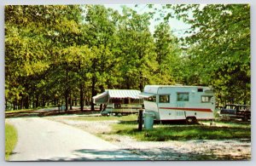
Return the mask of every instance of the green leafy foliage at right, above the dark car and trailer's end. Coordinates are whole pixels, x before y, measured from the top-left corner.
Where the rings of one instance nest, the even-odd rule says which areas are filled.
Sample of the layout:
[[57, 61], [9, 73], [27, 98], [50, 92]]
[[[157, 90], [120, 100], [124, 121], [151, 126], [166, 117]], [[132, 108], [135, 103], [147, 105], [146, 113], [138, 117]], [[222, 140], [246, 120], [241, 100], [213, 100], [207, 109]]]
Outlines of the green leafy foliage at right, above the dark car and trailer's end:
[[250, 104], [250, 5], [174, 5], [172, 9], [191, 25], [183, 43], [190, 71], [186, 83], [211, 84], [220, 103]]

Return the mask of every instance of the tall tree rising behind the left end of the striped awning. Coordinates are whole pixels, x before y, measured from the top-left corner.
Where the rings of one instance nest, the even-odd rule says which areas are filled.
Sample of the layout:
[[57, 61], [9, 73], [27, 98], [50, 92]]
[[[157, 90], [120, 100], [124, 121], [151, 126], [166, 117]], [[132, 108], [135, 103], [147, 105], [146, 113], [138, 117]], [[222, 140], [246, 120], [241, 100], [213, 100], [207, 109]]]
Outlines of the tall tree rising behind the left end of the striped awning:
[[[96, 87], [104, 91], [115, 61], [111, 52], [115, 33], [113, 10], [106, 9], [102, 5], [88, 5], [85, 21], [88, 27], [86, 29], [88, 44], [94, 52], [90, 67], [92, 101], [92, 96], [96, 95]], [[93, 102], [91, 102], [91, 110], [94, 111]]]

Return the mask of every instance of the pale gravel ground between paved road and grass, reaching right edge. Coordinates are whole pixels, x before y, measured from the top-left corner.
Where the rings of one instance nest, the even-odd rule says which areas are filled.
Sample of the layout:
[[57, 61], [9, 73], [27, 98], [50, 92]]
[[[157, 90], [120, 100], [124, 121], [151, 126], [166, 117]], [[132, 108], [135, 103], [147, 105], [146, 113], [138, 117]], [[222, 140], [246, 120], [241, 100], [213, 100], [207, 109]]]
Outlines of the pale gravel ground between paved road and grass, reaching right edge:
[[111, 141], [121, 149], [147, 160], [250, 160], [250, 140], [138, 141], [129, 136], [109, 135], [110, 125], [119, 121], [77, 121], [68, 117], [45, 117]]

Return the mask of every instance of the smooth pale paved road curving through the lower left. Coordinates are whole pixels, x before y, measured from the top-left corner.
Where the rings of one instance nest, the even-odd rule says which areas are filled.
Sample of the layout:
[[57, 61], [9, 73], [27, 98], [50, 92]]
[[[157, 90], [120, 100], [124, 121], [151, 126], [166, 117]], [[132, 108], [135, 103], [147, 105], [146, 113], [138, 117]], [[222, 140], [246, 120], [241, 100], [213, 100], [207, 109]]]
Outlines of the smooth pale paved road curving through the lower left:
[[95, 135], [43, 117], [6, 119], [18, 130], [9, 161], [143, 160]]

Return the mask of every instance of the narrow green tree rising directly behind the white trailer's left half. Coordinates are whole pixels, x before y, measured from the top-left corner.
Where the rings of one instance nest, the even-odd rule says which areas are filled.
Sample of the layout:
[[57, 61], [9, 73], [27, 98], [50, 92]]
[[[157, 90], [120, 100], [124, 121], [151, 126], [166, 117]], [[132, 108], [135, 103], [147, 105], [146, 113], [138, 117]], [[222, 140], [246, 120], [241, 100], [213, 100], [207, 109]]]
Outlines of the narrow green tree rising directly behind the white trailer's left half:
[[155, 27], [154, 44], [156, 61], [159, 65], [155, 72], [157, 84], [173, 84], [177, 81], [177, 68], [180, 66], [181, 49], [177, 37], [172, 35], [171, 27], [166, 22]]

